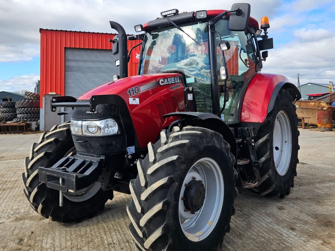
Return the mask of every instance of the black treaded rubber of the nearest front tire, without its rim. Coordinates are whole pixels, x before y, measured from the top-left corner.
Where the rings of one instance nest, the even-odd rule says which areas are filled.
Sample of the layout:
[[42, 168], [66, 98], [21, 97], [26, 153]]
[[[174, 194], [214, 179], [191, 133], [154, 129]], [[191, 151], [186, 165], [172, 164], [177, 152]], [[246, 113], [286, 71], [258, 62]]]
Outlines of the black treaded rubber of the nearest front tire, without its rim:
[[[235, 158], [229, 144], [214, 131], [200, 127], [174, 127], [137, 162], [138, 176], [130, 182], [132, 200], [127, 204], [131, 220], [129, 231], [139, 250], [216, 250], [230, 229], [230, 218], [237, 196], [233, 168]], [[191, 241], [179, 220], [179, 200], [185, 175], [198, 160], [215, 160], [223, 175], [224, 200], [218, 220], [210, 234]], [[197, 238], [197, 237], [195, 237]]]

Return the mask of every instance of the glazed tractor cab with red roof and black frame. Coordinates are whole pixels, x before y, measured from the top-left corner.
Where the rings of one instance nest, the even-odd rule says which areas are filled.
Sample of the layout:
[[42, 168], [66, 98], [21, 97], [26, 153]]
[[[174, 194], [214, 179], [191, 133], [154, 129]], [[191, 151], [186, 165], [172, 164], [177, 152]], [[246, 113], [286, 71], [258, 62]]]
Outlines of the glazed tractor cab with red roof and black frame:
[[[214, 113], [228, 124], [238, 123], [246, 83], [262, 68], [256, 49], [262, 30], [249, 17], [248, 4], [236, 8], [244, 16], [238, 16], [238, 11], [179, 14], [173, 9], [144, 26], [136, 25], [136, 31], [145, 31], [138, 73], [180, 73], [187, 111]], [[266, 34], [262, 38], [266, 40]]]

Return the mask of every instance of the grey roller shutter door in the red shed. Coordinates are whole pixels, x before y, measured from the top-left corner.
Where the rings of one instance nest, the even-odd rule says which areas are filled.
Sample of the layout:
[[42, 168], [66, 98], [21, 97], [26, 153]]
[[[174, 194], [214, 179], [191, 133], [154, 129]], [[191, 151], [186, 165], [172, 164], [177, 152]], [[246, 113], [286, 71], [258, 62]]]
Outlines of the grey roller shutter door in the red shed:
[[[119, 75], [119, 67], [115, 60], [119, 55], [113, 55], [112, 50], [65, 49], [65, 95], [78, 98], [85, 92], [103, 83], [113, 80]], [[66, 107], [65, 111], [71, 110]], [[64, 121], [71, 119], [65, 115]]]

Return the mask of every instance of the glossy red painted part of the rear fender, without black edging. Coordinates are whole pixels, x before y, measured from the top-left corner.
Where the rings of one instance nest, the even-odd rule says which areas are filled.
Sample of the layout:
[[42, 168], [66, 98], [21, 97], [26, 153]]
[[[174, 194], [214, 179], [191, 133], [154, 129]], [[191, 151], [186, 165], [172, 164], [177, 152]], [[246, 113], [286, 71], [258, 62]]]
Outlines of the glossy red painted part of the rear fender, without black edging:
[[264, 122], [275, 86], [289, 80], [282, 75], [257, 73], [250, 81], [243, 99], [241, 122]]

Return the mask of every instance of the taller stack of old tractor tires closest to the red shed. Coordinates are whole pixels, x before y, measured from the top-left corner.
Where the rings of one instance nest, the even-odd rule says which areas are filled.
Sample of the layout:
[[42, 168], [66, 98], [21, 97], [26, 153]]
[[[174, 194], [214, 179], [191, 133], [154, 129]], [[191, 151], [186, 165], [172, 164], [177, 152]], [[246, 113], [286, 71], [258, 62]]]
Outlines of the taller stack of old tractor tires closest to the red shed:
[[25, 100], [17, 101], [15, 104], [17, 121], [38, 121], [40, 119], [40, 94], [25, 92]]

